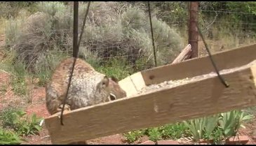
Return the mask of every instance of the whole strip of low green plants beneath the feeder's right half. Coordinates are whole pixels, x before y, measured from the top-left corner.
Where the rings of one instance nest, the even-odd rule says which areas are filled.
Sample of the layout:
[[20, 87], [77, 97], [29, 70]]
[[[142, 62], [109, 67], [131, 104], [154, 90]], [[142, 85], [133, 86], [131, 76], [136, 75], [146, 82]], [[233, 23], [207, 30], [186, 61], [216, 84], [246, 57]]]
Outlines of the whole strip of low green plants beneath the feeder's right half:
[[148, 136], [150, 140], [187, 138], [193, 136], [194, 141], [200, 139], [213, 140], [217, 144], [221, 140], [236, 136], [239, 128], [245, 128], [243, 123], [251, 119], [252, 115], [245, 114], [241, 110], [232, 110], [221, 114], [190, 119], [176, 124], [166, 124], [149, 129], [130, 131], [124, 133], [128, 143], [133, 143], [142, 136]]

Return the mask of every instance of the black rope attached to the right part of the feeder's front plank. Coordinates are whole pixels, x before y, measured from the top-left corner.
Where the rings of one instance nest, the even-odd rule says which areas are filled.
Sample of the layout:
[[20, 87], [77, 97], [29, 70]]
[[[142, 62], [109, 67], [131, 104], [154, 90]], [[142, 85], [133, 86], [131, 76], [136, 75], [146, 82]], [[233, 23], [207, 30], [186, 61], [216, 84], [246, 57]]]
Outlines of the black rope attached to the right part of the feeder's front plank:
[[210, 54], [210, 50], [209, 50], [209, 48], [208, 48], [208, 45], [207, 45], [205, 39], [203, 38], [202, 31], [201, 31], [201, 29], [199, 29], [198, 24], [196, 25], [196, 27], [197, 27], [197, 29], [198, 29], [199, 35], [201, 36], [201, 38], [202, 38], [202, 40], [203, 40], [203, 43], [204, 43], [204, 45], [205, 45], [205, 47], [206, 47], [206, 50], [207, 50], [207, 52], [208, 52], [210, 61], [212, 62], [213, 67], [215, 68], [215, 71], [216, 71], [216, 73], [217, 73], [218, 78], [220, 79], [220, 81], [222, 82], [222, 84], [223, 84], [225, 87], [229, 87], [228, 83], [224, 80], [224, 78], [222, 78], [222, 75], [220, 75], [220, 72], [219, 72], [219, 70], [217, 69], [217, 66], [216, 66], [216, 64], [215, 64], [215, 61], [213, 61], [212, 54]]

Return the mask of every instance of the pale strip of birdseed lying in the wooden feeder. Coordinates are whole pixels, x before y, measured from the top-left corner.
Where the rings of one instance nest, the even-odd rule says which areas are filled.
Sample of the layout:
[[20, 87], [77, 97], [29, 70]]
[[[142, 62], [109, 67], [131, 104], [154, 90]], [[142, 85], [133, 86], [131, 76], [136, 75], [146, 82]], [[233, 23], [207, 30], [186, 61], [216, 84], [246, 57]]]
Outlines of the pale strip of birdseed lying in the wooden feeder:
[[[227, 74], [227, 73], [233, 73], [235, 71], [238, 71], [238, 70], [241, 70], [241, 69], [244, 69], [244, 68], [248, 68], [248, 67], [252, 66], [253, 64], [256, 64], [256, 60], [251, 61], [249, 64], [245, 64], [243, 66], [238, 66], [236, 68], [224, 69], [224, 70], [220, 71], [220, 75], [224, 75], [224, 74]], [[147, 87], [144, 87], [139, 92], [137, 92], [137, 94], [157, 92], [157, 91], [162, 90], [162, 89], [173, 88], [173, 87], [177, 87], [177, 86], [180, 86], [180, 85], [187, 84], [189, 82], [195, 82], [195, 81], [199, 81], [199, 80], [203, 80], [203, 79], [211, 78], [211, 77], [215, 77], [215, 76], [217, 76], [217, 73], [211, 72], [211, 73], [204, 74], [204, 75], [198, 75], [198, 76], [195, 76], [193, 78], [184, 78], [182, 80], [164, 81], [164, 82], [161, 82], [161, 83], [156, 84], [156, 85], [149, 85]]]

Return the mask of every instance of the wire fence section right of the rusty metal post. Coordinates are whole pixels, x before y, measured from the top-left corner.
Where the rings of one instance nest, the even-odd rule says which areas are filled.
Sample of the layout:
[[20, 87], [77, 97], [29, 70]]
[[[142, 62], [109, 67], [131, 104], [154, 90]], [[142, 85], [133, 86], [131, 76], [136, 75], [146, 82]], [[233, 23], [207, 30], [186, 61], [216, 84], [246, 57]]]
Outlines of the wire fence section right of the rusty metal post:
[[[245, 6], [247, 5], [247, 6]], [[255, 3], [243, 1], [200, 2], [199, 23], [211, 52], [219, 52], [255, 43]], [[206, 55], [199, 39], [198, 52]]]

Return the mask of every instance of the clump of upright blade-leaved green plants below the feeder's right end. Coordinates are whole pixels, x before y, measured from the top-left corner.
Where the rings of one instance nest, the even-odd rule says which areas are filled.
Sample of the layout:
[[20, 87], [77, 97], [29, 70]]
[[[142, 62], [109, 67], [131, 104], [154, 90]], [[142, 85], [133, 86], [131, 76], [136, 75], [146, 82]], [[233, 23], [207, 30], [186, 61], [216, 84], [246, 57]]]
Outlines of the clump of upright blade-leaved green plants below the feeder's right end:
[[223, 138], [236, 136], [238, 129], [244, 128], [243, 122], [251, 118], [252, 115], [245, 115], [241, 110], [232, 110], [210, 117], [191, 119], [184, 124], [189, 128], [194, 140], [207, 139], [217, 143]]

